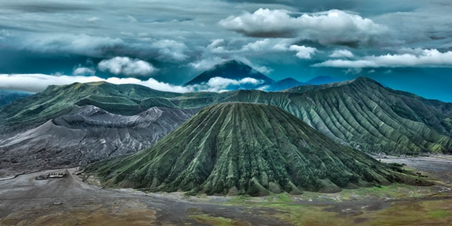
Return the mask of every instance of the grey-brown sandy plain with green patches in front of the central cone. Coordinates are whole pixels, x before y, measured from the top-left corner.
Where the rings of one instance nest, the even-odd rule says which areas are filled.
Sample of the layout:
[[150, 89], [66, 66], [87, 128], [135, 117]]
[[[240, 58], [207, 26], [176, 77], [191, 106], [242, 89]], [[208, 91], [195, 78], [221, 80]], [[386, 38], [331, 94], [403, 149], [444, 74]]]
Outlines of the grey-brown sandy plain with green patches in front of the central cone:
[[[452, 225], [452, 160], [402, 162], [435, 181], [431, 187], [392, 184], [325, 194], [187, 197], [105, 189], [68, 169], [64, 179], [36, 181], [45, 171], [0, 181], [0, 225]], [[86, 178], [85, 178], [86, 179]], [[61, 205], [53, 205], [60, 202]]]

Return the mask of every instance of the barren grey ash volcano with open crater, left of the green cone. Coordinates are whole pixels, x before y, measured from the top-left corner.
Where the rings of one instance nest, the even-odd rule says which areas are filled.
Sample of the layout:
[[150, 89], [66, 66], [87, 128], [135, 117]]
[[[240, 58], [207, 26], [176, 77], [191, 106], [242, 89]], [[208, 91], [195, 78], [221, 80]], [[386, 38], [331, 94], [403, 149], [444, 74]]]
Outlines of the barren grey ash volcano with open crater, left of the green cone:
[[133, 116], [92, 105], [0, 141], [0, 165], [10, 171], [76, 166], [151, 146], [197, 109], [153, 107]]

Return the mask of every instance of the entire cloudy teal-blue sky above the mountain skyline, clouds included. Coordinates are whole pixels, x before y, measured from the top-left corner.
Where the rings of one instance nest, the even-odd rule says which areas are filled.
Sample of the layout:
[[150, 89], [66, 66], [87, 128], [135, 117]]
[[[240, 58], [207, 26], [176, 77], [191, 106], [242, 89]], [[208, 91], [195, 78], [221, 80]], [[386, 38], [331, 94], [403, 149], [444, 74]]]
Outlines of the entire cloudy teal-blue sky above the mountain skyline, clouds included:
[[108, 79], [159, 90], [224, 60], [306, 81], [368, 76], [452, 102], [452, 3], [0, 2], [0, 89]]

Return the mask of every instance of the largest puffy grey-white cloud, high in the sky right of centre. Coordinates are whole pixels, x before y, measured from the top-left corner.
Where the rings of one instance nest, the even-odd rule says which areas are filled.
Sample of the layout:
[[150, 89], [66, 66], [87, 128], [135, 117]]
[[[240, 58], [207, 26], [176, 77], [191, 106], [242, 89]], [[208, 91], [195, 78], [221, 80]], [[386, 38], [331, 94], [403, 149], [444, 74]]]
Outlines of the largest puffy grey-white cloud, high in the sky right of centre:
[[369, 18], [342, 10], [329, 10], [294, 17], [287, 10], [256, 10], [229, 16], [220, 25], [251, 37], [303, 38], [322, 44], [368, 45], [388, 31]]

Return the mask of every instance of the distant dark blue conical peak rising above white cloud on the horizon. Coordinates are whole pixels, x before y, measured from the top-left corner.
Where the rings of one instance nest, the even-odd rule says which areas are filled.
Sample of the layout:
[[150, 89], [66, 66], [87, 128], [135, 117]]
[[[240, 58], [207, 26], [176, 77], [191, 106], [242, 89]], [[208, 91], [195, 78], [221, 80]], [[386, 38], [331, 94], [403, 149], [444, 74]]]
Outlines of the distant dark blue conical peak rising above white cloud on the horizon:
[[[273, 79], [265, 76], [264, 74], [256, 71], [251, 66], [244, 64], [237, 60], [228, 60], [222, 62], [221, 64], [217, 64], [216, 66], [210, 68], [208, 71], [201, 73], [194, 79], [188, 81], [185, 85], [190, 86], [194, 84], [203, 84], [207, 83], [210, 79], [214, 77], [223, 77], [225, 79], [234, 79], [240, 80], [244, 78], [253, 78], [260, 81], [259, 84], [243, 84], [242, 86], [249, 86], [249, 88], [253, 88], [254, 86], [264, 86], [268, 84], [272, 84], [274, 82]], [[247, 87], [245, 87], [247, 88]]]

